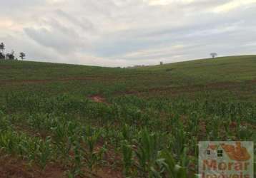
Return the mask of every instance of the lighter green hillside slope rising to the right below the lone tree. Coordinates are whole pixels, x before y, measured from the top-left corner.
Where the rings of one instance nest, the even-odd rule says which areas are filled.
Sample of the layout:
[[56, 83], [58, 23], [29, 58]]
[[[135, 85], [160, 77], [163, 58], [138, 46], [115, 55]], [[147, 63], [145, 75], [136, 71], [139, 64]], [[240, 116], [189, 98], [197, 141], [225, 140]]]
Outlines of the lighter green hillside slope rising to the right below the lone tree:
[[162, 66], [148, 66], [143, 70], [169, 71], [175, 75], [184, 75], [196, 81], [242, 81], [256, 79], [256, 56], [230, 56], [215, 59], [201, 59]]

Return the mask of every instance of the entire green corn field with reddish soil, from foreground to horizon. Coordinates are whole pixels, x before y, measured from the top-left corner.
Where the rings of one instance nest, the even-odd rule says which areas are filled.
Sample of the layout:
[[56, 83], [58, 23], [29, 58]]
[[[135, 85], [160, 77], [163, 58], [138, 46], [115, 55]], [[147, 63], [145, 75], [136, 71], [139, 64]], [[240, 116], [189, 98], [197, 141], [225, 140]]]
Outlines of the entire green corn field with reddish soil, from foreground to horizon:
[[256, 142], [256, 56], [0, 61], [0, 177], [192, 178], [203, 140]]

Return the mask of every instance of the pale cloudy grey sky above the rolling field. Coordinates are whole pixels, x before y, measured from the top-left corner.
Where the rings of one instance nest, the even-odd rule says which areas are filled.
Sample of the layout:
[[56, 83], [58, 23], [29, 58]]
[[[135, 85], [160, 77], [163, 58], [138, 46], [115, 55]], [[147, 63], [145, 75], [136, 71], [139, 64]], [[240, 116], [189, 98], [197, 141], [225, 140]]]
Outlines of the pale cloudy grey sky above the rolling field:
[[123, 67], [256, 54], [256, 0], [0, 4], [0, 42], [29, 61]]

